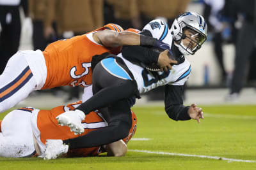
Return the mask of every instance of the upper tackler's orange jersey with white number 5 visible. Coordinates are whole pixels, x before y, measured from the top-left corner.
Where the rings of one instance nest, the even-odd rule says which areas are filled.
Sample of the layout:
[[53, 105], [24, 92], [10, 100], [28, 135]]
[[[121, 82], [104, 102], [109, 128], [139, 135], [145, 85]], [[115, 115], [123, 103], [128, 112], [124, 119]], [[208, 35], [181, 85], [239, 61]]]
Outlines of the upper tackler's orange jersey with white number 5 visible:
[[[95, 31], [104, 29], [124, 31], [122, 27], [116, 24], [108, 24]], [[92, 69], [90, 62], [93, 55], [100, 55], [105, 52], [117, 54], [120, 50], [121, 47], [106, 48], [94, 43], [88, 39], [86, 34], [51, 43], [43, 52], [47, 67], [47, 78], [42, 89], [65, 85], [82, 87], [91, 85]]]

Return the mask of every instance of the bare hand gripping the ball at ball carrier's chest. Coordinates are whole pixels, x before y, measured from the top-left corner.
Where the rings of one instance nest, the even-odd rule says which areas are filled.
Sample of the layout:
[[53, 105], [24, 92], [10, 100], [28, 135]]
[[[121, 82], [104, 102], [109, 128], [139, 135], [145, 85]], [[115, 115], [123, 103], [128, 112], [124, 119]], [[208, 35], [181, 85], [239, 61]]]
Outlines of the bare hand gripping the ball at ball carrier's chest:
[[[168, 56], [169, 50], [164, 50], [160, 53], [157, 61], [157, 65], [161, 68], [161, 71], [168, 71], [172, 69], [171, 64], [177, 64], [177, 60], [170, 59]], [[169, 54], [170, 55], [170, 54]]]

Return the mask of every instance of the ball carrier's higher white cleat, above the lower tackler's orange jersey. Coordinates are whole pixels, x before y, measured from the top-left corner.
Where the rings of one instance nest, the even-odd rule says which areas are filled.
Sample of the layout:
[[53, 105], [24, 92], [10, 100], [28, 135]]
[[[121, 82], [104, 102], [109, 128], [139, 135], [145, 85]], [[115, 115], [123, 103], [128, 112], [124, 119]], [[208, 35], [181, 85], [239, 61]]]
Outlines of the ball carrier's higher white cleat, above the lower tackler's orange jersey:
[[66, 111], [56, 117], [59, 125], [67, 125], [70, 128], [70, 132], [75, 134], [82, 134], [84, 132], [84, 127], [81, 123], [84, 118], [85, 115], [81, 110]]

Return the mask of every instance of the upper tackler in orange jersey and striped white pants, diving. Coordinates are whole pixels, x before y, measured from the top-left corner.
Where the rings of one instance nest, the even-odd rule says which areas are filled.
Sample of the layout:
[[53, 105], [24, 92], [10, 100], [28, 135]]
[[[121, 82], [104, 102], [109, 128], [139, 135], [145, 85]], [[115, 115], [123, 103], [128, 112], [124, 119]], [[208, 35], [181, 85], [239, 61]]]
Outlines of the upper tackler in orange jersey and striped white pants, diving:
[[[28, 97], [33, 90], [91, 85], [94, 55], [117, 54], [122, 45], [161, 44], [155, 38], [108, 24], [81, 36], [51, 43], [43, 52], [19, 51], [10, 58], [0, 75], [0, 113]], [[156, 62], [164, 68], [172, 67], [167, 52], [161, 53]]]

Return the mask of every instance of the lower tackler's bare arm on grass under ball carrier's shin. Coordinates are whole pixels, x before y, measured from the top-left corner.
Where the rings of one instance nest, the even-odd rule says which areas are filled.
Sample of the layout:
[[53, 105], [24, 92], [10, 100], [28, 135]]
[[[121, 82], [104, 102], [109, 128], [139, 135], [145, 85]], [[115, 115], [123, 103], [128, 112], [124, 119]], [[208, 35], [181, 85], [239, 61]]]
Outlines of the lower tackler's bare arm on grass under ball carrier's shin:
[[123, 157], [127, 152], [127, 145], [122, 139], [103, 146], [108, 157]]

